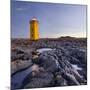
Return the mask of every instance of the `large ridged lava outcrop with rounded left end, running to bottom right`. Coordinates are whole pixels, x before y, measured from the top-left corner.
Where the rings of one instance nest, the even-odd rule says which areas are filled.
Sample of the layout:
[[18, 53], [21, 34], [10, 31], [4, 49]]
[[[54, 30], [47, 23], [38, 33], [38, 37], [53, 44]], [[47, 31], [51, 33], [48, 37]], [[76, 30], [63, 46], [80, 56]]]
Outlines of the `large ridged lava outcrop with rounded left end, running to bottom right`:
[[[38, 61], [38, 64], [48, 72], [55, 73], [59, 71], [62, 73], [59, 75], [62, 77], [61, 81], [66, 80], [68, 85], [80, 85], [83, 82], [84, 74], [82, 77], [78, 70], [72, 66], [75, 64], [82, 68], [82, 63], [79, 59], [70, 56], [66, 49], [58, 48], [58, 50], [43, 52], [39, 56]], [[63, 82], [62, 85], [64, 85]]]

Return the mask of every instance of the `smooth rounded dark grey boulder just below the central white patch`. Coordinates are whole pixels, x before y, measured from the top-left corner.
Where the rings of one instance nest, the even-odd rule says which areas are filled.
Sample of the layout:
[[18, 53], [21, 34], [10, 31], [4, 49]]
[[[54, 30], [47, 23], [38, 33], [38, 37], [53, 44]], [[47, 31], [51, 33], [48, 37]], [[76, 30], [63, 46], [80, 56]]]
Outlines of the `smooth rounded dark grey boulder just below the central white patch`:
[[58, 70], [58, 65], [56, 59], [51, 52], [42, 53], [39, 56], [40, 66], [42, 66], [48, 72], [56, 72]]

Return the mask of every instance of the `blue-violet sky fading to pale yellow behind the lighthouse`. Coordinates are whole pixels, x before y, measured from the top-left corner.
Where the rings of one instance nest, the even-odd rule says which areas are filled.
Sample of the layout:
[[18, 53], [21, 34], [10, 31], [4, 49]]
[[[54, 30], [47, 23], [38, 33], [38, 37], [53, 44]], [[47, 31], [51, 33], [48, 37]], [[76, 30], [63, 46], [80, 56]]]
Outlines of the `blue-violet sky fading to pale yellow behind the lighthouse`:
[[11, 1], [11, 38], [29, 38], [29, 21], [39, 21], [40, 38], [86, 37], [86, 5]]

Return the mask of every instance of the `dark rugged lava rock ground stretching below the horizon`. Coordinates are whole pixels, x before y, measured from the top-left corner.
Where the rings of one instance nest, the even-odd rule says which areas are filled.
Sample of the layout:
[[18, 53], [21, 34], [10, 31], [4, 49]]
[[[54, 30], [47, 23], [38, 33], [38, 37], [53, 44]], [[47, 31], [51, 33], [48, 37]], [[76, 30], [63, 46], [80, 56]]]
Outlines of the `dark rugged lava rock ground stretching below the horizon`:
[[12, 39], [12, 90], [86, 84], [86, 38]]

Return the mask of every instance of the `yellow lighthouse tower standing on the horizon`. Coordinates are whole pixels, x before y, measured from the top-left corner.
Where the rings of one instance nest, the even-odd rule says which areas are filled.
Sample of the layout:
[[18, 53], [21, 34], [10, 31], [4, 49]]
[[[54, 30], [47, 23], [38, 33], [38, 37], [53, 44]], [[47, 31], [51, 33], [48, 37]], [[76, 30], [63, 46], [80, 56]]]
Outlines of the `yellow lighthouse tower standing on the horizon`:
[[30, 20], [30, 40], [38, 40], [39, 39], [39, 23], [36, 18], [32, 18]]

